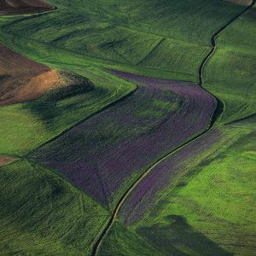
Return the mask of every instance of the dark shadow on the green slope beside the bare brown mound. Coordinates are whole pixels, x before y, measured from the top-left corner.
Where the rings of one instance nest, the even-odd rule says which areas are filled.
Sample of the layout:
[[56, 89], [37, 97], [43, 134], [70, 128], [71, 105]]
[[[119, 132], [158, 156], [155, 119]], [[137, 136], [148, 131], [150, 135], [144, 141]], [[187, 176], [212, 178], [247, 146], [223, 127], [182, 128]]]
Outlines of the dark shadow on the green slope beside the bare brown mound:
[[[77, 113], [73, 113], [73, 119], [77, 121], [76, 119], [80, 119], [79, 116], [83, 116], [83, 112], [86, 113], [94, 98], [108, 93], [102, 88], [95, 88], [89, 79], [69, 73], [64, 73], [64, 75], [61, 73], [61, 75], [62, 77], [65, 75], [66, 84], [64, 86], [50, 90], [38, 100], [23, 104], [23, 108], [38, 116], [38, 119], [49, 130], [55, 129], [58, 119], [63, 119], [64, 122], [68, 121], [67, 113], [70, 115], [76, 111]], [[80, 112], [81, 110], [82, 112]], [[59, 120], [60, 124], [62, 121]]]

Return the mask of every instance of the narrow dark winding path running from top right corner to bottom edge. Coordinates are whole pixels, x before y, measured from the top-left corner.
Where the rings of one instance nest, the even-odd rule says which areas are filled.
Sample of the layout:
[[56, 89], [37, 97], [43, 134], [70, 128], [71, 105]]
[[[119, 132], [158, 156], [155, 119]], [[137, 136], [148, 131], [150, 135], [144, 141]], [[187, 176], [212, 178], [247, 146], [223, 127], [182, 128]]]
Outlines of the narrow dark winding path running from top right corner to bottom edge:
[[[201, 88], [203, 90], [205, 90], [202, 87], [203, 84], [203, 73], [204, 73], [204, 68], [206, 67], [207, 61], [209, 61], [209, 59], [212, 57], [212, 55], [214, 54], [215, 50], [216, 50], [216, 39], [218, 38], [218, 35], [220, 32], [223, 32], [224, 29], [229, 26], [234, 20], [236, 20], [237, 18], [239, 18], [241, 15], [243, 15], [245, 12], [247, 12], [248, 9], [251, 9], [254, 5], [254, 3], [256, 2], [256, 0], [253, 0], [252, 3], [250, 5], [247, 6], [246, 9], [243, 9], [241, 11], [241, 13], [239, 13], [238, 15], [236, 15], [233, 19], [231, 19], [226, 25], [222, 26], [221, 28], [218, 29], [217, 32], [215, 32], [212, 35], [211, 38], [211, 44], [212, 44], [212, 49], [210, 50], [210, 52], [207, 54], [207, 56], [204, 58], [204, 60], [201, 62], [201, 66], [199, 67], [199, 71], [198, 71], [198, 76], [199, 76], [199, 86], [201, 86]], [[206, 90], [207, 91], [207, 90]], [[209, 91], [207, 91], [207, 93], [209, 93], [211, 96], [213, 96]], [[104, 238], [104, 236], [106, 236], [108, 234], [108, 231], [111, 229], [111, 227], [113, 226], [114, 220], [118, 217], [118, 214], [120, 212], [121, 207], [124, 205], [125, 200], [127, 199], [127, 197], [129, 195], [131, 195], [131, 192], [136, 189], [137, 185], [143, 180], [144, 177], [146, 177], [148, 175], [149, 172], [151, 172], [155, 166], [158, 166], [161, 162], [163, 162], [164, 160], [166, 160], [169, 156], [171, 156], [172, 154], [176, 153], [178, 150], [188, 146], [190, 143], [194, 143], [197, 139], [199, 139], [202, 136], [205, 136], [209, 131], [212, 131], [213, 125], [215, 124], [216, 120], [218, 119], [219, 115], [223, 112], [223, 103], [220, 102], [220, 100], [218, 100], [218, 98], [216, 96], [213, 96], [216, 99], [217, 105], [215, 108], [214, 113], [212, 114], [212, 119], [210, 122], [210, 125], [208, 126], [206, 131], [203, 131], [201, 134], [197, 135], [196, 137], [192, 138], [191, 140], [189, 140], [186, 143], [183, 143], [183, 145], [179, 146], [178, 148], [176, 148], [175, 150], [172, 150], [172, 152], [166, 154], [165, 156], [163, 156], [162, 158], [160, 158], [160, 160], [156, 160], [151, 166], [148, 167], [146, 172], [143, 172], [143, 174], [137, 178], [137, 180], [131, 184], [130, 188], [127, 189], [125, 191], [125, 194], [120, 198], [119, 202], [117, 203], [116, 207], [113, 210], [113, 213], [111, 215], [111, 218], [108, 220], [108, 224], [106, 225], [106, 227], [104, 228], [104, 230], [102, 230], [101, 235], [98, 237], [94, 247], [92, 248], [92, 256], [96, 256], [99, 247], [101, 246], [102, 240]]]

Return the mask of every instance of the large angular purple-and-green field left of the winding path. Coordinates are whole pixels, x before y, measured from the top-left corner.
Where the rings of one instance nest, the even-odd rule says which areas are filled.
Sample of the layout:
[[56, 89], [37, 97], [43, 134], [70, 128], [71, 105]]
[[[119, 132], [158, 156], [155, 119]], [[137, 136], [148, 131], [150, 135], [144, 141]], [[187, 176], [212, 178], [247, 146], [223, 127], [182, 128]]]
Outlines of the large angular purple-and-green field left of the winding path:
[[31, 155], [105, 206], [145, 166], [204, 131], [216, 105], [196, 84], [112, 73], [137, 90]]

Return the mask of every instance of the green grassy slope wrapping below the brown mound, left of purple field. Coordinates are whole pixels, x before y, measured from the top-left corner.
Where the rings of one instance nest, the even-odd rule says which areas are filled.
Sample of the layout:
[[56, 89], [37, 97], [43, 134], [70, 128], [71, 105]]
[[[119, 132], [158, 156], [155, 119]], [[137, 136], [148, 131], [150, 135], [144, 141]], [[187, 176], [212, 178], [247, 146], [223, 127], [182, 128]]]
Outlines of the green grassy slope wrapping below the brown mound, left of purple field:
[[136, 88], [97, 69], [74, 71], [89, 78], [94, 90], [54, 101], [43, 97], [0, 108], [0, 133], [4, 134], [0, 137], [0, 154], [26, 154]]

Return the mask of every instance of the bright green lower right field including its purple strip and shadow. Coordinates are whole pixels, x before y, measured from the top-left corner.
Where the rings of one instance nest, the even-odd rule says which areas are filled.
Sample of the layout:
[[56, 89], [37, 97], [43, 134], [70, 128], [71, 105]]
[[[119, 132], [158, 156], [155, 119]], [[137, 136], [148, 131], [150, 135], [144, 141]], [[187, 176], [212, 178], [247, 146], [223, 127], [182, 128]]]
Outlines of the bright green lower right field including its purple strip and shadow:
[[[103, 240], [100, 255], [253, 255], [255, 117], [212, 130], [144, 178]], [[128, 225], [128, 227], [127, 227]], [[229, 234], [229, 236], [227, 236]], [[134, 253], [134, 252], [133, 252]]]

